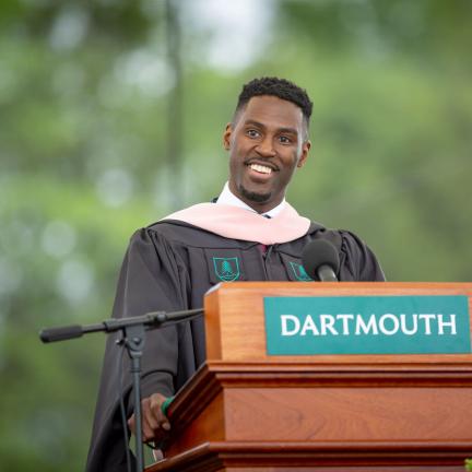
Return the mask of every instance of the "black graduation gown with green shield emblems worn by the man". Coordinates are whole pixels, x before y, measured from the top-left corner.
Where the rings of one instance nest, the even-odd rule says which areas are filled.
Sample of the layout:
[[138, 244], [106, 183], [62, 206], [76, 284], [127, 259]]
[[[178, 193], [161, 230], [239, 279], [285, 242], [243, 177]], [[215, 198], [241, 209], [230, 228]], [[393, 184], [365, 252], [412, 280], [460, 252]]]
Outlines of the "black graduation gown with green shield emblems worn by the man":
[[[314, 238], [329, 239], [340, 256], [340, 281], [384, 281], [370, 249], [355, 235], [312, 223], [290, 243], [263, 247], [228, 239], [190, 224], [166, 220], [138, 231], [131, 238], [118, 281], [114, 318], [149, 311], [200, 308], [204, 293], [221, 281], [299, 281], [303, 248]], [[126, 471], [126, 448], [119, 412], [119, 356], [109, 335], [92, 442], [88, 472]], [[146, 332], [142, 357], [142, 396], [174, 394], [205, 358], [202, 317]], [[123, 391], [128, 417], [130, 381], [125, 355]]]

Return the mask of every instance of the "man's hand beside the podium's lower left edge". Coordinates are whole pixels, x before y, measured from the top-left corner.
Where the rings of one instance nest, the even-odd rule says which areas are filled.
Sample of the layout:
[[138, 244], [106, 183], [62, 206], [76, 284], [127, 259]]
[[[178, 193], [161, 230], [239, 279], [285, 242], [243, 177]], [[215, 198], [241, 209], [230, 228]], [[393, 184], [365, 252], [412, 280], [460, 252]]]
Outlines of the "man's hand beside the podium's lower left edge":
[[[161, 410], [165, 401], [166, 398], [161, 393], [153, 393], [151, 397], [141, 400], [142, 434], [144, 442], [153, 439], [163, 439], [166, 432], [170, 429], [170, 423]], [[134, 414], [128, 420], [128, 426], [131, 432], [135, 434]]]

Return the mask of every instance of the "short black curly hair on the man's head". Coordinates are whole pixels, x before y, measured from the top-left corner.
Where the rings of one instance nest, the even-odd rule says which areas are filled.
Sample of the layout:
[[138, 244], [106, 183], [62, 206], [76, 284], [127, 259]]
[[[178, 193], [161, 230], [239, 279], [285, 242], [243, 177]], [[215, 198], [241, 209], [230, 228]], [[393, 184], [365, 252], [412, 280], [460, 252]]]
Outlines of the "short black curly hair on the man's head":
[[239, 94], [236, 105], [235, 115], [245, 107], [253, 96], [260, 95], [272, 95], [292, 102], [302, 109], [308, 127], [312, 110], [312, 102], [309, 99], [306, 91], [288, 80], [274, 76], [253, 79], [243, 85], [243, 91]]

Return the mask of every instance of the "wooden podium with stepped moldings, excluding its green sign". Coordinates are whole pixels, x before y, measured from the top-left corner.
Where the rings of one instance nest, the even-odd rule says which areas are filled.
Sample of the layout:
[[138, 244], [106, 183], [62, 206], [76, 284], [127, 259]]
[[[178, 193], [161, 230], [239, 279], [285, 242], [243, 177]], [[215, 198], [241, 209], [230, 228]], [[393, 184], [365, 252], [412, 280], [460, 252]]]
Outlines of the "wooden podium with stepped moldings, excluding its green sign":
[[[264, 297], [461, 295], [472, 283], [223, 283], [161, 471], [464, 471], [472, 353], [269, 355]], [[470, 332], [469, 332], [470, 335]]]

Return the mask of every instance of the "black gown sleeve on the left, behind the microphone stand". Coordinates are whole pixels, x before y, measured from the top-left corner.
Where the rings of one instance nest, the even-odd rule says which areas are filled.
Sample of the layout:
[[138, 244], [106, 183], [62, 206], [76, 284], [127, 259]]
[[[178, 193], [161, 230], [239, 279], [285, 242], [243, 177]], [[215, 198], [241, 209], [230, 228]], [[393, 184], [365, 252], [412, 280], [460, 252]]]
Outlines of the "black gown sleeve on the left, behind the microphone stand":
[[[170, 244], [152, 229], [140, 229], [129, 244], [118, 279], [114, 318], [144, 315], [149, 311], [174, 311], [188, 308], [186, 268]], [[175, 324], [146, 331], [142, 368], [142, 398], [175, 391], [178, 370], [179, 339], [185, 326]], [[120, 333], [108, 335], [95, 411], [87, 472], [126, 471], [126, 448], [119, 409], [121, 390], [129, 417], [129, 361], [116, 345]], [[120, 356], [122, 368], [120, 369]], [[122, 381], [120, 382], [120, 376]]]

